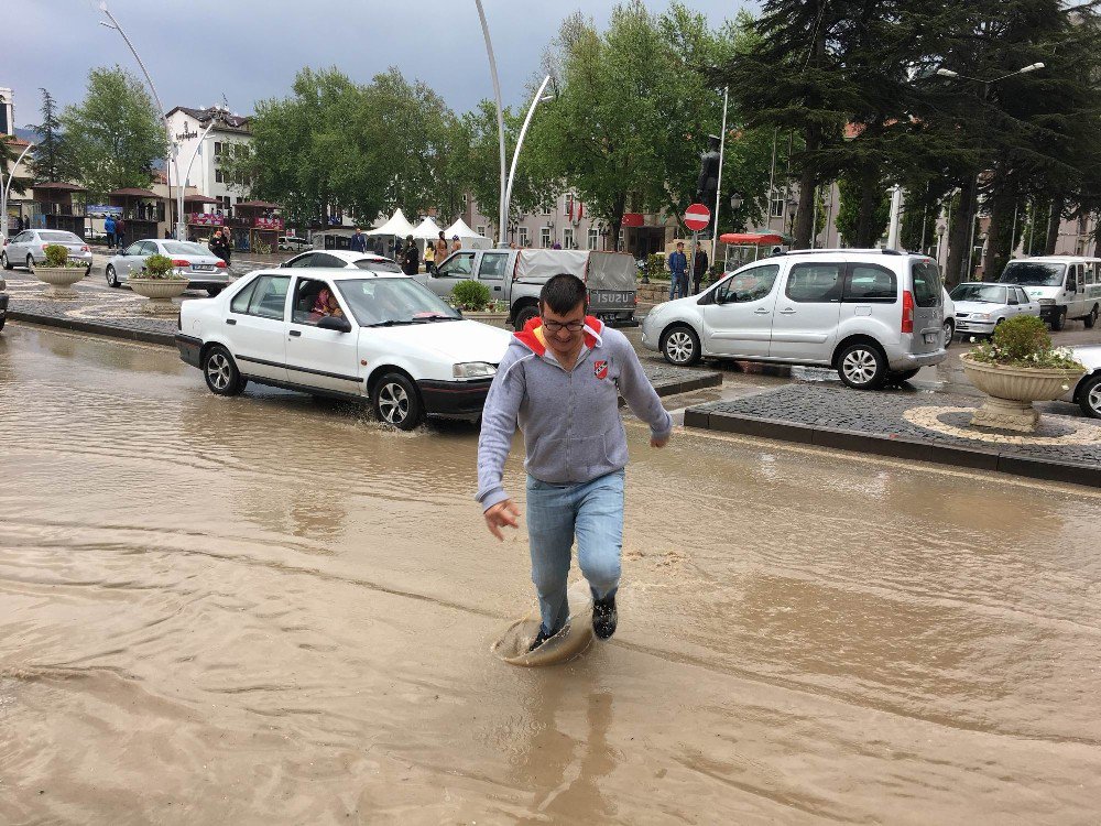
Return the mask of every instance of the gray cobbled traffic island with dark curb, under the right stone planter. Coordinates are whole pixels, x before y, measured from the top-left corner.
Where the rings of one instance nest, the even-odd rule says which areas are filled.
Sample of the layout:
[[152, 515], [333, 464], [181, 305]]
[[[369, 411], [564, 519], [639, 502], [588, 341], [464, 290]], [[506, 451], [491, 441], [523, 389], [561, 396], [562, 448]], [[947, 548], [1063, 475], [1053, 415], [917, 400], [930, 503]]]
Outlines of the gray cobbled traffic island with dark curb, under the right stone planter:
[[1101, 487], [1101, 421], [1045, 413], [1034, 434], [971, 427], [981, 400], [788, 384], [690, 407], [685, 425]]

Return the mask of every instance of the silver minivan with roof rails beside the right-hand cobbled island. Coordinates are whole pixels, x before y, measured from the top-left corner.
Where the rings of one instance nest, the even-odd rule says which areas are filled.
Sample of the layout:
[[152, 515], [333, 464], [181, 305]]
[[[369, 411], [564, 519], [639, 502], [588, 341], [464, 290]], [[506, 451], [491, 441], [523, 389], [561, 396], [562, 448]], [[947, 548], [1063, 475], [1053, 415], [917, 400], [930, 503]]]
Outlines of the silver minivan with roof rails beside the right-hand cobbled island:
[[895, 250], [799, 250], [754, 261], [700, 295], [658, 304], [643, 346], [701, 357], [832, 367], [861, 390], [947, 357], [936, 261]]

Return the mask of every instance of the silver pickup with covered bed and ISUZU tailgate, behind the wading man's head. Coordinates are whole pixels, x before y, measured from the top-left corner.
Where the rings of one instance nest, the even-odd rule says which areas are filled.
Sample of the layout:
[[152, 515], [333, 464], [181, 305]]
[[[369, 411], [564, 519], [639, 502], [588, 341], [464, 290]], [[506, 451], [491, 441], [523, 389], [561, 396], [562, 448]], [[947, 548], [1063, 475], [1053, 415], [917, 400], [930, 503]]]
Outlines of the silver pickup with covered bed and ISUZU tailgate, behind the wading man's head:
[[613, 325], [630, 326], [637, 305], [634, 259], [625, 252], [597, 250], [456, 250], [417, 275], [436, 295], [447, 297], [460, 281], [479, 281], [490, 298], [509, 306], [509, 323], [517, 330], [538, 315], [539, 290], [552, 275], [570, 272], [589, 289], [589, 313]]

